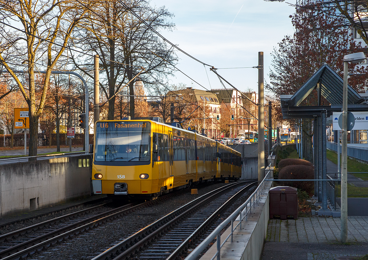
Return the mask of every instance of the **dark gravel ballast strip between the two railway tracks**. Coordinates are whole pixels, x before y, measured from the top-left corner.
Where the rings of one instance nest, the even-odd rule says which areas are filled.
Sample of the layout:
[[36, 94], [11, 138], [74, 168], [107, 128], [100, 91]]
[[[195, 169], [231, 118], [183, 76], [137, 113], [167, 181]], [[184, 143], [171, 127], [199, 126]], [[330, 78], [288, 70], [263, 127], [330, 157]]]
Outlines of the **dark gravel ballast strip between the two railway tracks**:
[[198, 188], [198, 195], [190, 195], [190, 191], [188, 191], [157, 204], [145, 206], [139, 211], [103, 223], [99, 227], [72, 237], [65, 242], [56, 243], [49, 249], [32, 254], [27, 259], [92, 259], [178, 207], [224, 185], [227, 184], [215, 183], [206, 187], [197, 186], [195, 188]]

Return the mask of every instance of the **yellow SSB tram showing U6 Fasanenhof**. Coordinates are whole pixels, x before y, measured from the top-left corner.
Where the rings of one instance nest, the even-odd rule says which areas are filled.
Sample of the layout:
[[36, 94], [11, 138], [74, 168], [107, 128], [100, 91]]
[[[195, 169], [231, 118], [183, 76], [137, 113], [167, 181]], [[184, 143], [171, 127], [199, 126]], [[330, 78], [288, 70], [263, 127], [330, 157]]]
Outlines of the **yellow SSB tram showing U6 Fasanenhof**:
[[215, 179], [241, 177], [241, 154], [160, 118], [95, 124], [94, 194], [157, 197]]

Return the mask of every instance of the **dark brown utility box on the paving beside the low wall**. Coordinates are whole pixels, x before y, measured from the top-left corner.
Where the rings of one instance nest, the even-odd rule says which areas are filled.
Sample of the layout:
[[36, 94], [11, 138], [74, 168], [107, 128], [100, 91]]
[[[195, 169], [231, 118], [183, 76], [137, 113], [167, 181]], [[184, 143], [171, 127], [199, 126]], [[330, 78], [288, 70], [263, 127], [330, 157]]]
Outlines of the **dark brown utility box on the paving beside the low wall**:
[[270, 219], [273, 215], [280, 215], [280, 219], [293, 216], [298, 219], [298, 192], [290, 186], [277, 186], [271, 188], [270, 195]]

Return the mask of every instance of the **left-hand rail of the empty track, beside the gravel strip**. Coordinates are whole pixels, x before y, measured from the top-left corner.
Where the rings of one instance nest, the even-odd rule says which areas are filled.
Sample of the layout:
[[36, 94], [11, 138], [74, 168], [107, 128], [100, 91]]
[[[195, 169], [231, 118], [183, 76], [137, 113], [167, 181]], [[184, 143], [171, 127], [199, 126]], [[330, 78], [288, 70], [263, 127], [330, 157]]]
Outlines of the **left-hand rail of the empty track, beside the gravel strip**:
[[[148, 225], [142, 230], [139, 230], [135, 234], [117, 243], [116, 245], [112, 246], [111, 248], [107, 249], [105, 252], [99, 254], [98, 256], [94, 257], [91, 260], [109, 259], [109, 258], [112, 258], [114, 254], [119, 253], [119, 251], [121, 250], [124, 250], [124, 251], [120, 253], [117, 257], [115, 257], [114, 260], [124, 259], [130, 254], [133, 254], [135, 250], [138, 250], [142, 245], [144, 245], [146, 242], [148, 242], [149, 240], [151, 240], [152, 238], [160, 234], [162, 231], [171, 227], [171, 225], [173, 225], [176, 221], [180, 220], [183, 216], [188, 214], [188, 212], [191, 212], [199, 205], [206, 203], [209, 198], [213, 198], [213, 196], [219, 195], [220, 193], [223, 193], [227, 189], [231, 189], [235, 186], [241, 185], [242, 183], [244, 182], [237, 182], [234, 184], [226, 185], [225, 187], [215, 189], [205, 195], [200, 196], [199, 198], [191, 202], [188, 202], [184, 206], [181, 206], [180, 208], [174, 210], [173, 212], [167, 214], [166, 216], [163, 216], [162, 218], [156, 220], [152, 224]], [[151, 232], [151, 230], [153, 230], [153, 232]], [[151, 232], [151, 233], [146, 235], [148, 232]], [[130, 246], [131, 243], [134, 243], [134, 245]]]

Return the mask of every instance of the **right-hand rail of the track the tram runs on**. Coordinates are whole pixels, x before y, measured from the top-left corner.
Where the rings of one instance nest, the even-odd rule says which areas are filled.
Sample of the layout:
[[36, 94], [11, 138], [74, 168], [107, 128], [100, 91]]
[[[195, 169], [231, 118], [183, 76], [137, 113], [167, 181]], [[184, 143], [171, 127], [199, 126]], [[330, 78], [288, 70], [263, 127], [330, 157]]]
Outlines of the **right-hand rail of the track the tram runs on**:
[[[30, 239], [26, 242], [20, 243], [16, 246], [13, 246], [11, 248], [5, 249], [0, 252], [0, 259], [1, 260], [16, 260], [20, 257], [24, 257], [28, 254], [32, 254], [33, 252], [37, 250], [41, 250], [46, 246], [52, 245], [53, 243], [57, 241], [62, 241], [64, 238], [67, 238], [69, 236], [75, 235], [77, 233], [83, 232], [85, 230], [88, 230], [90, 228], [93, 228], [95, 226], [98, 226], [99, 224], [102, 224], [103, 222], [119, 217], [123, 214], [130, 213], [131, 211], [142, 207], [146, 205], [151, 205], [153, 203], [162, 201], [173, 194], [168, 194], [165, 196], [162, 196], [158, 199], [155, 199], [153, 201], [147, 201], [143, 202], [141, 204], [128, 207], [127, 209], [112, 209], [107, 212], [103, 212], [100, 214], [97, 214], [95, 216], [89, 217], [88, 219], [78, 221], [76, 223], [72, 223], [70, 225], [67, 225], [63, 228], [59, 228], [55, 231], [49, 232], [47, 234], [44, 234], [42, 236], [38, 236], [36, 238]], [[125, 207], [122, 206], [122, 207]], [[120, 207], [121, 208], [121, 207]], [[67, 231], [67, 232], [65, 232]], [[7, 254], [4, 256], [4, 254]]]

